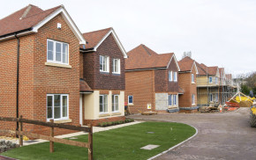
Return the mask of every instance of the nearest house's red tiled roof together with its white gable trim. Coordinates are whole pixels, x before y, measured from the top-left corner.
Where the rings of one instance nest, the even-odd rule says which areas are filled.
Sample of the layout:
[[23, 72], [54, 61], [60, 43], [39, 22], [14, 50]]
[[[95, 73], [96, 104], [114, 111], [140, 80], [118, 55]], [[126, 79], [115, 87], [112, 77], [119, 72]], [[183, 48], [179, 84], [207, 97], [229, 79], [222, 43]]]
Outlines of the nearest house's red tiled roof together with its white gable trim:
[[50, 19], [55, 18], [58, 14], [63, 16], [67, 25], [70, 26], [72, 32], [78, 38], [79, 43], [86, 44], [86, 40], [79, 32], [78, 27], [75, 25], [68, 12], [64, 9], [63, 5], [43, 11], [36, 6], [29, 4], [25, 8], [1, 19], [0, 37], [2, 38], [0, 38], [0, 40], [14, 38], [14, 34], [21, 36], [29, 33], [37, 33], [42, 25], [45, 25]]

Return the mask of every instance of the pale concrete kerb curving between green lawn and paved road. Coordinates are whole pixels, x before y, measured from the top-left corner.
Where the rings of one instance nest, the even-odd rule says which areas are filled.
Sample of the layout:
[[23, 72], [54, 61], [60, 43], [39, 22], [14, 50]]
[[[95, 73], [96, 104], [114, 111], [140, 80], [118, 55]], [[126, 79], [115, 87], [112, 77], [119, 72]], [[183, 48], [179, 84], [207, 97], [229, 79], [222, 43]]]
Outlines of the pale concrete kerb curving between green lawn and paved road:
[[[169, 120], [154, 120], [154, 119], [142, 119], [142, 118], [133, 118], [134, 120], [143, 120], [143, 121], [160, 121], [160, 122], [173, 122], [173, 123], [180, 123], [180, 122], [176, 122], [176, 121], [169, 121]], [[183, 123], [186, 124], [186, 123]], [[186, 124], [188, 126], [193, 127], [192, 125]], [[177, 145], [163, 151], [162, 153], [156, 155], [156, 156], [152, 156], [150, 158], [148, 158], [147, 160], [153, 160], [154, 158], [158, 157], [158, 156], [162, 156], [163, 154], [167, 153], [169, 150], [171, 149], [175, 149], [178, 146], [180, 146], [181, 144], [183, 144], [184, 142], [188, 142], [190, 141], [193, 137], [195, 137], [196, 135], [198, 135], [198, 129], [196, 127], [193, 127], [196, 130], [196, 133], [194, 135], [192, 135], [191, 137], [189, 137], [188, 139], [184, 140], [183, 142], [178, 143]]]

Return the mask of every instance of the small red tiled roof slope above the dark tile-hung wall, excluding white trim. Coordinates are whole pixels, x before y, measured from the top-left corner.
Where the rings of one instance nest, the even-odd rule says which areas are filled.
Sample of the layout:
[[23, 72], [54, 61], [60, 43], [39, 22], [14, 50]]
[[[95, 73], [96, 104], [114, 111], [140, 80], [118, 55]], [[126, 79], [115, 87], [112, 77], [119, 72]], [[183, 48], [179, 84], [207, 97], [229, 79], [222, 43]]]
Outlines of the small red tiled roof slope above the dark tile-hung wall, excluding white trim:
[[86, 48], [94, 48], [111, 29], [110, 27], [90, 33], [83, 33], [84, 38], [87, 40]]

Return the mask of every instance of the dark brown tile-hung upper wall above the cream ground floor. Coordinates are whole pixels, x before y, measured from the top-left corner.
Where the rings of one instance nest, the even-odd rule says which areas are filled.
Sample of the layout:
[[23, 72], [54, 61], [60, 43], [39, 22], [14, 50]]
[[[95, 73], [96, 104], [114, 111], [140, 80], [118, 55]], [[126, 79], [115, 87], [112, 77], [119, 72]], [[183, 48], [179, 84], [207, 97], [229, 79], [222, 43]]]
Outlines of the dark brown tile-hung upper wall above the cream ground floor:
[[[100, 72], [100, 55], [109, 56], [109, 73]], [[121, 74], [112, 74], [113, 58], [120, 59]], [[124, 55], [110, 34], [96, 52], [84, 54], [84, 77], [93, 90], [125, 90]]]

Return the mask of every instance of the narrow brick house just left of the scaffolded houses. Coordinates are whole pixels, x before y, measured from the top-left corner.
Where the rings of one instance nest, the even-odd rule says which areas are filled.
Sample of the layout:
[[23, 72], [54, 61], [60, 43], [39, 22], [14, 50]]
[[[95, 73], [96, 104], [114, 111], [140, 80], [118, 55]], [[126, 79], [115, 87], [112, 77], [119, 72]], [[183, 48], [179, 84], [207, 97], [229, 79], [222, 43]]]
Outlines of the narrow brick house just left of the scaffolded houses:
[[199, 73], [196, 63], [191, 57], [185, 56], [178, 62], [180, 71], [178, 72], [178, 84], [184, 93], [178, 96], [179, 112], [195, 113], [197, 106], [197, 80]]

